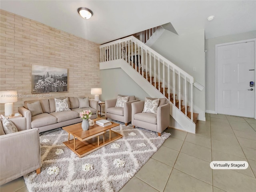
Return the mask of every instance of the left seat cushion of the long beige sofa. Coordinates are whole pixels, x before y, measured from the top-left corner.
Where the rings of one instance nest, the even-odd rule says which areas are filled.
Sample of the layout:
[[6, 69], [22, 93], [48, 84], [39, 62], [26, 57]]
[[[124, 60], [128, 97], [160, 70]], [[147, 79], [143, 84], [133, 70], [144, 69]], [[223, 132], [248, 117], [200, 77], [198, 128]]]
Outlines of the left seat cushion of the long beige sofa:
[[31, 117], [31, 128], [42, 127], [54, 123], [57, 123], [57, 118], [48, 113], [42, 113]]

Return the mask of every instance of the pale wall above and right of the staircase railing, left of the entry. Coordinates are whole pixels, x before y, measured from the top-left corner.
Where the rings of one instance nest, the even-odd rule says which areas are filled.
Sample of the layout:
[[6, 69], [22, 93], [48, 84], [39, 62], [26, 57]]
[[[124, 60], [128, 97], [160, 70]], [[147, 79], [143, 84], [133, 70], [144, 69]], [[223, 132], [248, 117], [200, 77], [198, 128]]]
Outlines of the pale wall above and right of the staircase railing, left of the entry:
[[[151, 48], [205, 86], [204, 30], [184, 35], [165, 30]], [[205, 120], [205, 89], [194, 88], [194, 111], [199, 113], [200, 120]]]

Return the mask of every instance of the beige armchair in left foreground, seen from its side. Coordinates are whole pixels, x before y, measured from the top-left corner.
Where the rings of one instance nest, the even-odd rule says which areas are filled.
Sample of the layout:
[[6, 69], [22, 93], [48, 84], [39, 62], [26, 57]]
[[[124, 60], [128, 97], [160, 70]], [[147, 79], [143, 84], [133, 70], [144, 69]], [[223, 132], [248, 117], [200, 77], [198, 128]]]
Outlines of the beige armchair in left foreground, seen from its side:
[[[11, 120], [18, 132], [0, 135], [0, 184], [5, 184], [34, 170], [40, 173], [39, 131], [26, 129], [26, 118]], [[2, 126], [2, 119], [1, 119]]]

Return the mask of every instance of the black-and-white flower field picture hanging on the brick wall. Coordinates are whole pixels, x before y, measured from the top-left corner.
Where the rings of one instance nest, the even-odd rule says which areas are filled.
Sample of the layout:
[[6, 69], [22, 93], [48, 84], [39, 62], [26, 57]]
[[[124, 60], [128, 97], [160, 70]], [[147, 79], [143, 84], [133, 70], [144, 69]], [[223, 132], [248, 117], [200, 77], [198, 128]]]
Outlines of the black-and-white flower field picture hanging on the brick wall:
[[68, 69], [32, 64], [32, 93], [68, 92]]

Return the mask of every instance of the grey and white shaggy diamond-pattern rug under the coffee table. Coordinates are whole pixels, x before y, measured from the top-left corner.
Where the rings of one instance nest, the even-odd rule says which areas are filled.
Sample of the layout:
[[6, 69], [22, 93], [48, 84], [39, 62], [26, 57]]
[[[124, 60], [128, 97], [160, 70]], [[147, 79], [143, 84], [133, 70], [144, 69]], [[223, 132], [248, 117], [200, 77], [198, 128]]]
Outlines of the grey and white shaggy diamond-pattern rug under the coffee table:
[[24, 176], [28, 191], [118, 192], [170, 136], [122, 124], [112, 130], [123, 137], [82, 158], [62, 143], [62, 128], [41, 133], [41, 173]]

